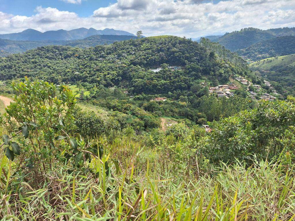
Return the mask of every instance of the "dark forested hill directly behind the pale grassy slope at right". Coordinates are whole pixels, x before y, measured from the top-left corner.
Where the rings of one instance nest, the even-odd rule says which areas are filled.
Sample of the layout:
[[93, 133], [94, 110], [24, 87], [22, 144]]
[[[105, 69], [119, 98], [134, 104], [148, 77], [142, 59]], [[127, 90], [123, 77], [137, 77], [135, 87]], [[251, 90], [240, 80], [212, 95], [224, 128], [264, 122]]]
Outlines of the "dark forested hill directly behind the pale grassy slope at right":
[[264, 40], [252, 44], [245, 49], [238, 50], [238, 53], [253, 61], [268, 57], [295, 54], [295, 36], [282, 36]]

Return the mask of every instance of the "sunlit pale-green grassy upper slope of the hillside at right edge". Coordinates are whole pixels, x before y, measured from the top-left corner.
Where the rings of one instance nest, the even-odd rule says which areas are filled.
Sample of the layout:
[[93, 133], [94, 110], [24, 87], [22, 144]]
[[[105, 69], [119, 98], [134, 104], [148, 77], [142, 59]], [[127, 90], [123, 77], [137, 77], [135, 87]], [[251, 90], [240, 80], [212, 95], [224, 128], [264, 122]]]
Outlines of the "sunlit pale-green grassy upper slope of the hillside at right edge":
[[284, 66], [295, 66], [295, 54], [280, 57], [270, 57], [249, 65], [250, 69], [272, 70]]

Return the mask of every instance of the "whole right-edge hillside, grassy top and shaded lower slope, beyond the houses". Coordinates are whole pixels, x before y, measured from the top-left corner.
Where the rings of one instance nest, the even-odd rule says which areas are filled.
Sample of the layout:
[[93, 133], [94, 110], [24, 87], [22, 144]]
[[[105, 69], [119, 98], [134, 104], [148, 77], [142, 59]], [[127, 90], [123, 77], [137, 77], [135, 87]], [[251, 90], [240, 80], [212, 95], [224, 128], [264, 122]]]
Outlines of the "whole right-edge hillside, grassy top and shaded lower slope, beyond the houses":
[[295, 54], [266, 58], [250, 64], [249, 67], [282, 85], [282, 90], [295, 94]]

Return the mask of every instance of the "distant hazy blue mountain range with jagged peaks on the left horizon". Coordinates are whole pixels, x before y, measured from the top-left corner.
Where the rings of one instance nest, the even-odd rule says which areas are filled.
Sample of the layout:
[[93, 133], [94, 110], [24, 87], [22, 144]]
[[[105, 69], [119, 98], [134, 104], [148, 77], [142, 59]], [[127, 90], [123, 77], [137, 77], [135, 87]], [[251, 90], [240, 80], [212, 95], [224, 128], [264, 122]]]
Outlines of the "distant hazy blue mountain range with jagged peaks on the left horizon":
[[22, 32], [11, 34], [0, 34], [1, 39], [16, 40], [16, 41], [48, 41], [48, 40], [74, 40], [83, 39], [92, 35], [131, 35], [130, 32], [114, 29], [96, 30], [94, 28], [78, 28], [70, 31], [63, 29], [57, 31], [39, 32], [35, 29], [26, 29]]

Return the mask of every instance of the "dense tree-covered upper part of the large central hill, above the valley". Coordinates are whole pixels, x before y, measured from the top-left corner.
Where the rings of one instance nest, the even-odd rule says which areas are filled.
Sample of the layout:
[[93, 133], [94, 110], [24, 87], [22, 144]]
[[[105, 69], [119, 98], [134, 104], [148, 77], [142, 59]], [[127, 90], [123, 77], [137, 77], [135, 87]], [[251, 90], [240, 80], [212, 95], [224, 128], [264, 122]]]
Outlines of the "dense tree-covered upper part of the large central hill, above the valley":
[[[160, 65], [160, 72], [149, 71], [149, 67]], [[168, 65], [181, 66], [182, 70], [172, 71]], [[173, 36], [87, 49], [46, 46], [1, 58], [0, 62], [0, 80], [28, 76], [54, 83], [119, 85], [139, 93], [188, 90], [202, 76], [226, 83], [235, 74], [256, 79], [248, 68], [220, 58], [197, 42]]]

